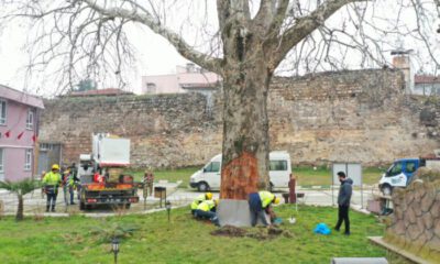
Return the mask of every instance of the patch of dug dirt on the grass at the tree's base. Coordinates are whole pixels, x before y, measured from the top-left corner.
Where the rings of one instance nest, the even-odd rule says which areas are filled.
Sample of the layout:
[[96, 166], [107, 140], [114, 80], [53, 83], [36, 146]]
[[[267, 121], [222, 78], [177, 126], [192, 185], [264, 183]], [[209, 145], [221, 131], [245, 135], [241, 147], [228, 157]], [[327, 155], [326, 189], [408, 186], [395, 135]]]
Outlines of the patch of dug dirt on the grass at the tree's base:
[[232, 226], [224, 226], [211, 232], [211, 235], [221, 235], [228, 238], [251, 238], [256, 240], [272, 240], [279, 235], [285, 238], [293, 238], [293, 234], [279, 228], [257, 228], [257, 229], [242, 229]]

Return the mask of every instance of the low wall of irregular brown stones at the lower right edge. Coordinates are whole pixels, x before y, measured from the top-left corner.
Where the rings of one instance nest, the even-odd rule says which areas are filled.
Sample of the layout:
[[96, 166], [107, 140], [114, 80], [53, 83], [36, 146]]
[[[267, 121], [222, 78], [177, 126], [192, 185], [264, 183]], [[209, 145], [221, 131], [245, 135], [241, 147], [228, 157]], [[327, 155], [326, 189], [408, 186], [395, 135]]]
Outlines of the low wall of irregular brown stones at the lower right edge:
[[440, 260], [440, 172], [418, 174], [421, 179], [393, 194], [385, 241], [435, 263]]

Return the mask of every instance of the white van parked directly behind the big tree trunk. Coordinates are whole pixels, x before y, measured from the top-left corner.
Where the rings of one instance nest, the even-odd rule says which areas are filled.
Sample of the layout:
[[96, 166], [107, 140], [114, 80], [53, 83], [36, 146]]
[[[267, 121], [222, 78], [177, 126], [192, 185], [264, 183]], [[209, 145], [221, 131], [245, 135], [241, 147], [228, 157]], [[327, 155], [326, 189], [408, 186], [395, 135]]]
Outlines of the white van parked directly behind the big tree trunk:
[[[292, 175], [290, 155], [286, 151], [270, 153], [271, 189], [287, 188]], [[189, 186], [199, 191], [220, 189], [221, 154], [216, 155], [201, 169], [194, 173]]]

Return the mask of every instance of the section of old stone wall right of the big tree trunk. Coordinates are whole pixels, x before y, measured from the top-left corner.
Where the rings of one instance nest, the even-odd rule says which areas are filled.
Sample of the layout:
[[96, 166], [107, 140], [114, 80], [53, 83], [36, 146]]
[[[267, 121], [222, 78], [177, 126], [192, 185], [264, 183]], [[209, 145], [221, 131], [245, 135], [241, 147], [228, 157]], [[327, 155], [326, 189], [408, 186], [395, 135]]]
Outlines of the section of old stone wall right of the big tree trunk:
[[[440, 107], [405, 95], [399, 72], [358, 70], [275, 79], [270, 94], [271, 142], [295, 163], [364, 165], [418, 156], [439, 147]], [[428, 119], [429, 119], [428, 118]], [[431, 131], [431, 132], [430, 132]]]

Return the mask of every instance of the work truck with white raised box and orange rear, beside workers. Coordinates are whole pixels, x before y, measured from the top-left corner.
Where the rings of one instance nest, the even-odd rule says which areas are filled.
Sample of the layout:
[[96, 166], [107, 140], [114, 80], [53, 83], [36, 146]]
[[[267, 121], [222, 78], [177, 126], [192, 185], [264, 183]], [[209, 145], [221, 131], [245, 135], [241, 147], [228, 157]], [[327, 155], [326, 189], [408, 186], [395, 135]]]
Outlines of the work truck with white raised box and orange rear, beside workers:
[[130, 208], [139, 202], [133, 177], [124, 175], [130, 166], [130, 140], [107, 133], [92, 134], [91, 154], [79, 155], [79, 209], [98, 205]]

